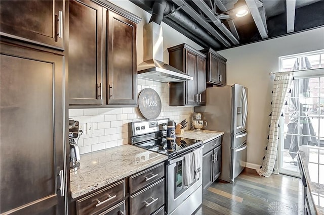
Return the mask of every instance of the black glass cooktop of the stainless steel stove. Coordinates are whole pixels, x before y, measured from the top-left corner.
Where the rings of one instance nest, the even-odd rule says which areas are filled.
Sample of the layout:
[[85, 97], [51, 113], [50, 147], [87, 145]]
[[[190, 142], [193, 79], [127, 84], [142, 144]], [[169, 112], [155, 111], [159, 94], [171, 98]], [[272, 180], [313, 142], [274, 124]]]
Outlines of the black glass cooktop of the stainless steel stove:
[[160, 138], [144, 143], [140, 143], [136, 146], [145, 148], [147, 150], [155, 151], [157, 153], [172, 156], [174, 154], [180, 154], [189, 150], [195, 146], [201, 145], [203, 142], [200, 140], [176, 137], [175, 140], [167, 140], [167, 138]]

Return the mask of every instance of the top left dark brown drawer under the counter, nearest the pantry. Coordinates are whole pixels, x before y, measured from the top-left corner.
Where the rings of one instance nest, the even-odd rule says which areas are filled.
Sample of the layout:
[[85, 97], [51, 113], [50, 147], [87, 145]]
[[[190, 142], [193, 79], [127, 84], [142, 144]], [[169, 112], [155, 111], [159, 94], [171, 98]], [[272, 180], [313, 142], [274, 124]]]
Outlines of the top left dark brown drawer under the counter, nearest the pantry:
[[95, 214], [125, 197], [124, 180], [76, 201], [78, 215]]

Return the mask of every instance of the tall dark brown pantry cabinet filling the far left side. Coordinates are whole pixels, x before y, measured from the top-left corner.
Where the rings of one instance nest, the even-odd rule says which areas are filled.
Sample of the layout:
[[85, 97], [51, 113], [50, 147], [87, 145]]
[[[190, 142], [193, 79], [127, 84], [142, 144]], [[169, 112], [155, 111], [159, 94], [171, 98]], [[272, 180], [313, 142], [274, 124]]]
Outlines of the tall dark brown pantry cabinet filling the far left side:
[[65, 1], [0, 1], [0, 213], [64, 214]]

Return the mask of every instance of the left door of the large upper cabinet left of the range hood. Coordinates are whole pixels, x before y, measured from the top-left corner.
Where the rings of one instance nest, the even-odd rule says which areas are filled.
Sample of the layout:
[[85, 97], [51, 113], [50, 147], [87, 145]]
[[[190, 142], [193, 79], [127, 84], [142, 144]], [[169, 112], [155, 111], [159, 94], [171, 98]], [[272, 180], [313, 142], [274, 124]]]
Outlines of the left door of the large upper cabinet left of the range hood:
[[100, 105], [102, 10], [90, 1], [69, 2], [69, 104]]

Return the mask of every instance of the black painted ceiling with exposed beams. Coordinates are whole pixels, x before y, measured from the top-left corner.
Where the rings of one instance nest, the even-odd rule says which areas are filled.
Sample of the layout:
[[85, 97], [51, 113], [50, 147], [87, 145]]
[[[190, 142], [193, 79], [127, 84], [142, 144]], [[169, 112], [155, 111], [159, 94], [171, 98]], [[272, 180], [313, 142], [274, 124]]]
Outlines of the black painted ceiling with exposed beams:
[[[152, 13], [155, 1], [131, 0]], [[161, 1], [159, 1], [161, 2]], [[215, 50], [256, 42], [324, 26], [324, 0], [173, 0], [166, 1], [172, 11], [190, 19], [214, 42], [164, 14], [163, 22], [203, 47]], [[235, 17], [235, 9], [246, 5], [250, 13]], [[166, 12], [165, 12], [166, 13]], [[218, 34], [218, 36], [215, 36]], [[324, 35], [323, 35], [324, 36]], [[221, 37], [221, 39], [220, 39]]]

